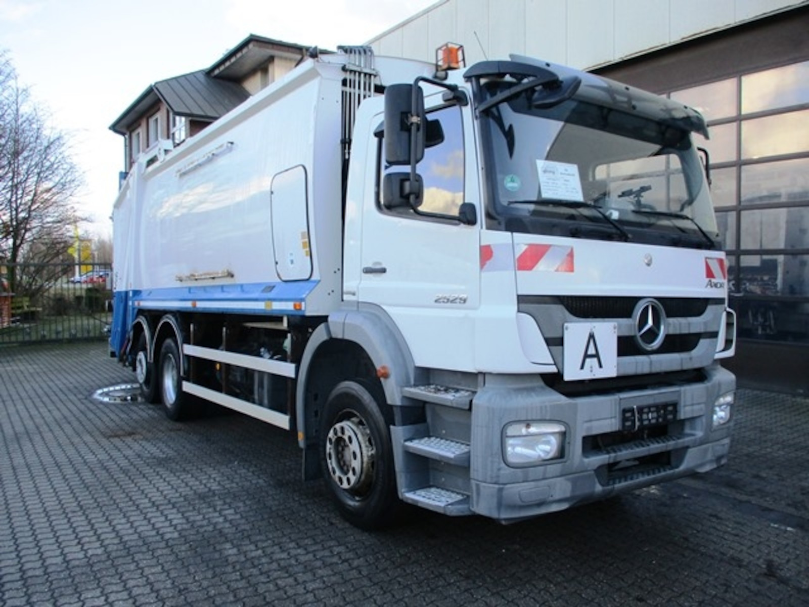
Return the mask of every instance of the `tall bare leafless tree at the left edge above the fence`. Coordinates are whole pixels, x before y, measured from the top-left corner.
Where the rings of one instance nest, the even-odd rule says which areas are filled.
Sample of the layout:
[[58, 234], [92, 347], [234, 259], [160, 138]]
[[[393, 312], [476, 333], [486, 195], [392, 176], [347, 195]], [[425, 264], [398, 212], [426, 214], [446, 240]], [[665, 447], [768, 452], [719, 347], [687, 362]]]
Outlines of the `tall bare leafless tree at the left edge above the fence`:
[[0, 53], [0, 257], [8, 261], [12, 291], [17, 264], [63, 256], [80, 219], [74, 197], [82, 185], [66, 134], [47, 124]]

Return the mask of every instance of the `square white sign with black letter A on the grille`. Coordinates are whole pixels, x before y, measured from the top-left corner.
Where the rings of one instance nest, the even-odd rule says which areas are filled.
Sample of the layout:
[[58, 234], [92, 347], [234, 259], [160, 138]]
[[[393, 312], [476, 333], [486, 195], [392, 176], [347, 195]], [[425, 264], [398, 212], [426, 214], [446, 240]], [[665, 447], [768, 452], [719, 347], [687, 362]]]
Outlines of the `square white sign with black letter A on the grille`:
[[614, 322], [565, 323], [562, 348], [565, 380], [618, 375], [618, 325]]

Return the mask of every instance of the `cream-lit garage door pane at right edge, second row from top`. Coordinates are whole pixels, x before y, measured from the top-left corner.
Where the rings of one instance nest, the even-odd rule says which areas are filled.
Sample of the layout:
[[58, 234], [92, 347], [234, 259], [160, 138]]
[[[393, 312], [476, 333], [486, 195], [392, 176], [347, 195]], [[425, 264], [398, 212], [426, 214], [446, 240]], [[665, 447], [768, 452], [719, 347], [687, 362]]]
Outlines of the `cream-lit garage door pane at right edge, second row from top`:
[[742, 158], [809, 151], [809, 110], [742, 121]]

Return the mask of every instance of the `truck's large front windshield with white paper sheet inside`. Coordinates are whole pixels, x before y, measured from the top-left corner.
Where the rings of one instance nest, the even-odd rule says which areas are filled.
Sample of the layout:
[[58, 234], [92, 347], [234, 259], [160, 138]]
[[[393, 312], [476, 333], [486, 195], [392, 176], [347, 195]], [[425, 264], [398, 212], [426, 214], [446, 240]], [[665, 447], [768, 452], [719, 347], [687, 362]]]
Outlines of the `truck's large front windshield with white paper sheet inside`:
[[[513, 82], [482, 87], [489, 227], [714, 248], [704, 171], [688, 131], [570, 99], [547, 107]], [[539, 106], [539, 107], [538, 107]]]

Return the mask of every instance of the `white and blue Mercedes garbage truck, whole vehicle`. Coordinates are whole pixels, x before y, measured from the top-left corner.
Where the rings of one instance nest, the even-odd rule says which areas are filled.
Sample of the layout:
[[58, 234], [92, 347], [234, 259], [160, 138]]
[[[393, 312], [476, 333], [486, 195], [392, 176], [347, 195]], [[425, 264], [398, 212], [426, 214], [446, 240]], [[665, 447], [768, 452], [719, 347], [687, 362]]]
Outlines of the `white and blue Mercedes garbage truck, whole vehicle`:
[[110, 354], [146, 400], [294, 432], [366, 529], [404, 504], [511, 523], [726, 462], [699, 112], [459, 45], [311, 54], [121, 186]]

